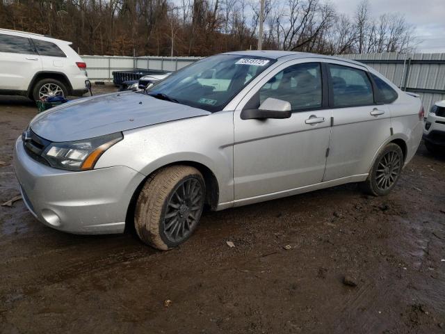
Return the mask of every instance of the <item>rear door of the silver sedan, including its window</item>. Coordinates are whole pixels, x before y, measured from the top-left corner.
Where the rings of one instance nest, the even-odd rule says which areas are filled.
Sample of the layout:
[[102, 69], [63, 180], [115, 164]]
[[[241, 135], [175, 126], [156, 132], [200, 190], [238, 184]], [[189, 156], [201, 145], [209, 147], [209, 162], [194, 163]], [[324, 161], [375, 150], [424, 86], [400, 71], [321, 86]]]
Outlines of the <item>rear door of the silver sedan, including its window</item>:
[[323, 181], [369, 173], [375, 152], [391, 135], [388, 107], [375, 102], [369, 72], [341, 62], [328, 67], [333, 127]]

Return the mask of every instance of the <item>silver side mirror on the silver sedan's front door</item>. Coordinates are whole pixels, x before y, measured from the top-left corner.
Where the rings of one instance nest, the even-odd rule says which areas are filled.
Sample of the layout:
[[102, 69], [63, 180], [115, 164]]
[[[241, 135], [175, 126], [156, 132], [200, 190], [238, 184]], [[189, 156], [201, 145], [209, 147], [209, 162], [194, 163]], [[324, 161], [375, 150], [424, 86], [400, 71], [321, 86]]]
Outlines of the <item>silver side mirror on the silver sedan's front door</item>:
[[287, 101], [268, 97], [258, 109], [245, 109], [241, 111], [242, 120], [265, 120], [266, 118], [290, 118], [292, 107]]

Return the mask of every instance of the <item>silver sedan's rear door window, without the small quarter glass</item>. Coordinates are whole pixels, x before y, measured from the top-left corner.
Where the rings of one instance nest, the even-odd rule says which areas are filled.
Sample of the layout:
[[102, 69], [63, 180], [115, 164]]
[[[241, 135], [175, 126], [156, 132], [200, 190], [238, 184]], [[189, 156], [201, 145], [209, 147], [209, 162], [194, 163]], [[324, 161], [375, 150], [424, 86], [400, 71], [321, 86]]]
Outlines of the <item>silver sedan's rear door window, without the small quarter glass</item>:
[[374, 103], [373, 88], [366, 72], [353, 67], [329, 65], [334, 106], [363, 106]]

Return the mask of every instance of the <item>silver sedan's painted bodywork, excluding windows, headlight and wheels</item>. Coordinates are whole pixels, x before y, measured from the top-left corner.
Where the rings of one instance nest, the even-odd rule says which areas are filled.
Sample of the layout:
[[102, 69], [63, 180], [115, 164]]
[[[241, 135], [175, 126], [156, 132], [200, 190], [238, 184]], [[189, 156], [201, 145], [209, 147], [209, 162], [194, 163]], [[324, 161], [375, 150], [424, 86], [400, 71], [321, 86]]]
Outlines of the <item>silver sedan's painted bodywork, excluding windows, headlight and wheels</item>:
[[[407, 145], [405, 164], [414, 156], [422, 135], [421, 102], [370, 67], [286, 51], [229, 54], [276, 61], [223, 111], [209, 113], [129, 92], [90, 97], [37, 116], [31, 129], [51, 141], [118, 131], [124, 139], [102, 154], [95, 170], [67, 172], [28, 157], [19, 138], [16, 173], [32, 203], [31, 211], [44, 221], [42, 209], [58, 210], [63, 223], [68, 222], [56, 227], [60, 230], [121, 232], [138, 186], [154, 170], [169, 164], [193, 163], [211, 170], [218, 183], [216, 209], [225, 209], [366, 180], [378, 152], [394, 140]], [[289, 65], [305, 62], [336, 63], [373, 72], [396, 90], [398, 99], [385, 105], [295, 112], [282, 120], [241, 120], [243, 106], [270, 77]], [[374, 108], [384, 113], [371, 116]], [[312, 115], [325, 121], [305, 124]]]

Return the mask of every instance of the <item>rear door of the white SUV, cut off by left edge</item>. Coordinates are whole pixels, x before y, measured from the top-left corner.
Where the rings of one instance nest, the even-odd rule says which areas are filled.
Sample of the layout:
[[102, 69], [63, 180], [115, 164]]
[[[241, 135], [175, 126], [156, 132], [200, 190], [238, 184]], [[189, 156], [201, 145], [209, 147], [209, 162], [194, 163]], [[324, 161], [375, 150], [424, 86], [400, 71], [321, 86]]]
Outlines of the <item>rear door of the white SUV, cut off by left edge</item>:
[[0, 33], [0, 90], [26, 91], [41, 70], [40, 56], [28, 38]]

